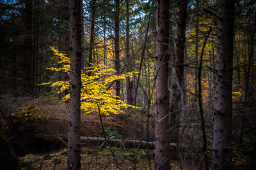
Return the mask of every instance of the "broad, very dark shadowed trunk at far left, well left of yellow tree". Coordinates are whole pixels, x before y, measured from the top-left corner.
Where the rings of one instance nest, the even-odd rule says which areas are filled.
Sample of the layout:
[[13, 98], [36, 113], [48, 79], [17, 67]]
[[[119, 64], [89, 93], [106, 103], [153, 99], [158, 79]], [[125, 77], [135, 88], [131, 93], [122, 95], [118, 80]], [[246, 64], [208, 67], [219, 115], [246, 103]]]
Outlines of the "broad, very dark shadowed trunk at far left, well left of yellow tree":
[[32, 94], [32, 0], [24, 0], [23, 11], [24, 38], [23, 38], [23, 96]]

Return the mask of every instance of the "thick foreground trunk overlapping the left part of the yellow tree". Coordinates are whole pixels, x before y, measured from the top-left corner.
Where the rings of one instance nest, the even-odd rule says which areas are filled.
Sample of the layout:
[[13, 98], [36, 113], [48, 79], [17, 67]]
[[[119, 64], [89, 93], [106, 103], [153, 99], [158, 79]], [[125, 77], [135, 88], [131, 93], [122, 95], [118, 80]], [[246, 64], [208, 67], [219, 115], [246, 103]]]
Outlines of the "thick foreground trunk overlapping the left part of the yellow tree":
[[67, 169], [80, 169], [81, 1], [70, 0], [70, 109]]

